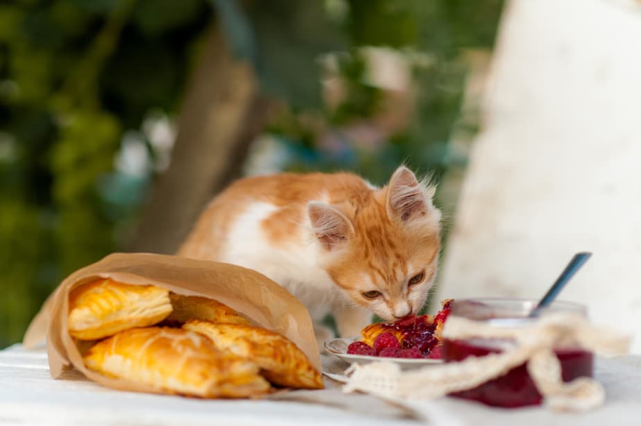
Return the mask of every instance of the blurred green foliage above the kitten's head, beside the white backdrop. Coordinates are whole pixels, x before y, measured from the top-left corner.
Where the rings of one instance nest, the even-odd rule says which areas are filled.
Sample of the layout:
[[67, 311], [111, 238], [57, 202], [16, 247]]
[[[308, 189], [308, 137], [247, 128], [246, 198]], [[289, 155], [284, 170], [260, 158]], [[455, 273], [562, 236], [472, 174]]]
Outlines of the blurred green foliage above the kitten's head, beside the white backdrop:
[[[345, 144], [342, 151], [327, 152], [318, 135], [297, 117], [305, 109], [291, 107], [270, 130], [292, 147], [289, 168], [349, 169], [372, 182], [386, 182], [404, 162], [419, 173], [440, 178], [453, 159], [448, 145], [459, 114], [468, 67], [466, 49], [493, 46], [502, 0], [352, 0], [342, 4], [345, 14], [337, 19], [346, 37], [345, 54], [339, 58], [347, 96], [332, 110], [323, 110], [323, 121], [334, 137]], [[403, 53], [411, 66], [415, 105], [408, 126], [388, 135], [375, 149], [350, 143], [343, 130], [350, 122], [381, 112], [384, 90], [367, 81], [363, 46], [391, 47]], [[412, 61], [413, 57], [418, 57]], [[474, 129], [471, 129], [474, 130]]]

